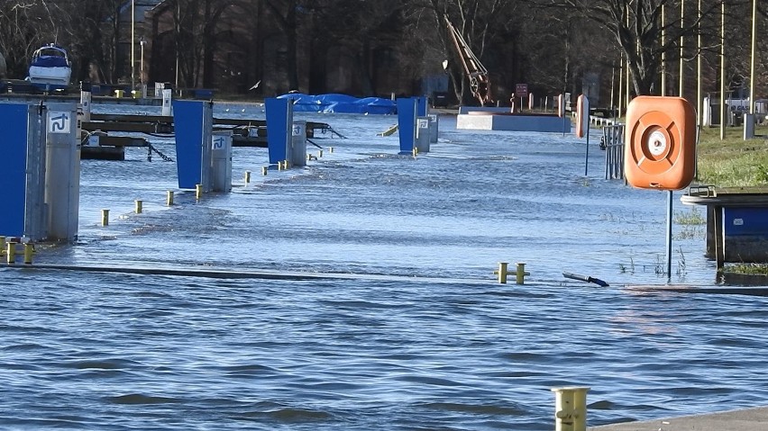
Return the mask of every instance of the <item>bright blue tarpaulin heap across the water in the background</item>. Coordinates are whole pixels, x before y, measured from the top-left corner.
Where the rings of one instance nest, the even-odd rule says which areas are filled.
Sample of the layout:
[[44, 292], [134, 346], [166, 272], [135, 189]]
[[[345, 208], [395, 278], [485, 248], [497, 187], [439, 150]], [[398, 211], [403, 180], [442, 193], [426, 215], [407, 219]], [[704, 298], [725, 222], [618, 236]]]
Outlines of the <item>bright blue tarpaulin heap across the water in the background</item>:
[[279, 95], [278, 98], [292, 100], [294, 112], [372, 113], [382, 115], [398, 112], [396, 103], [381, 97], [359, 99], [348, 94], [310, 95], [288, 93]]

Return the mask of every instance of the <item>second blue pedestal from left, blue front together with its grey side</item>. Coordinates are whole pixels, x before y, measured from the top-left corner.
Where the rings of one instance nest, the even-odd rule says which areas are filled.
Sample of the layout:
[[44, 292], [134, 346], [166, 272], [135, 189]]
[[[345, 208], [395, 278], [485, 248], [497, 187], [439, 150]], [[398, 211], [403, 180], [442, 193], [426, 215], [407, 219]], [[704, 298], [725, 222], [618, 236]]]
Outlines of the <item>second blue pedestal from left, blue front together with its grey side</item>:
[[211, 191], [213, 121], [212, 103], [173, 101], [178, 188], [196, 189], [197, 184], [202, 184], [203, 193]]

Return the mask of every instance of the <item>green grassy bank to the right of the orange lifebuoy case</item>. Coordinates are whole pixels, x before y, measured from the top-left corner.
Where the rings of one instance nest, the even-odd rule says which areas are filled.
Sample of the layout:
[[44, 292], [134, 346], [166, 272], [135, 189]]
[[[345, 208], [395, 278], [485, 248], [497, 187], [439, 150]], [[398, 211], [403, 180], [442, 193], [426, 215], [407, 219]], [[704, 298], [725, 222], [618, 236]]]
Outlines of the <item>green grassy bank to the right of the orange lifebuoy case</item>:
[[702, 128], [696, 183], [718, 187], [768, 185], [768, 126], [755, 128], [755, 139], [744, 140], [742, 128]]

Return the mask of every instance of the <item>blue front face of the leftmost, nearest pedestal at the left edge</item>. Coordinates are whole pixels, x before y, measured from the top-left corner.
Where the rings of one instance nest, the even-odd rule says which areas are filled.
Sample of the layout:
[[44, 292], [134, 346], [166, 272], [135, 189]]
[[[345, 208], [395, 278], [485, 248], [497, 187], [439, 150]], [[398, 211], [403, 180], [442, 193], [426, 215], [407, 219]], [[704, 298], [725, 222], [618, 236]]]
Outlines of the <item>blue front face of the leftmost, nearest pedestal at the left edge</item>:
[[24, 234], [26, 202], [27, 121], [26, 104], [0, 103], [0, 190], [3, 191], [3, 211], [0, 211], [0, 235], [21, 237]]

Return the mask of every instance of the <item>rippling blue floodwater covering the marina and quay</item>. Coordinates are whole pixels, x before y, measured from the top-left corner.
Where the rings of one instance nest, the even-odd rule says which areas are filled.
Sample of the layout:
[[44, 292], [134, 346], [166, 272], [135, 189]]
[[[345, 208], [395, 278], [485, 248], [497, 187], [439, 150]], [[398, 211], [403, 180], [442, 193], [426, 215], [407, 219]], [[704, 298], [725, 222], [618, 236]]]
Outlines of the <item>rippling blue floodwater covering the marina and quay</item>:
[[[571, 135], [442, 116], [414, 158], [376, 136], [395, 117], [301, 118], [348, 139], [266, 176], [266, 149], [234, 148], [233, 193], [199, 202], [144, 149], [84, 160], [78, 244], [35, 262], [329, 277], [0, 268], [0, 427], [548, 430], [562, 386], [591, 388], [590, 426], [764, 404], [768, 300], [637, 289], [668, 283], [666, 194], [603, 180], [599, 139], [585, 177]], [[674, 226], [670, 283], [715, 285], [703, 229]]]

